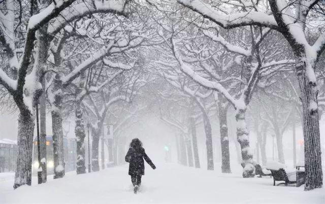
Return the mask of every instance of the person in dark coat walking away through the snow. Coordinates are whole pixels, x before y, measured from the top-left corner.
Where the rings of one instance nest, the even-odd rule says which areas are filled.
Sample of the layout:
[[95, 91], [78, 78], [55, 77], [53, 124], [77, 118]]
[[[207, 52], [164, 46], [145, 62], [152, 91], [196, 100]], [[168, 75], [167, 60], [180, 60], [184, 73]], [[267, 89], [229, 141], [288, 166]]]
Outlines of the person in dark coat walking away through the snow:
[[138, 192], [141, 185], [141, 177], [144, 175], [144, 160], [152, 169], [156, 169], [151, 159], [146, 154], [142, 147], [142, 142], [138, 138], [134, 138], [129, 145], [129, 149], [125, 156], [125, 161], [129, 162], [128, 175], [131, 176], [131, 181], [134, 186], [134, 193]]

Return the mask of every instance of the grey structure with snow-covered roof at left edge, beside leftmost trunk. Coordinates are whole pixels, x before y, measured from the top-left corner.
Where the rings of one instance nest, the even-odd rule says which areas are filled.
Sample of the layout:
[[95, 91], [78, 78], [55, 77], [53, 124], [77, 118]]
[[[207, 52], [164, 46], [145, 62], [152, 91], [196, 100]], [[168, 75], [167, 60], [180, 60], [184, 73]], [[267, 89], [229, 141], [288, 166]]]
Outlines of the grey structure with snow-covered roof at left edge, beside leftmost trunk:
[[14, 140], [0, 140], [0, 173], [12, 172], [16, 168], [17, 142]]

